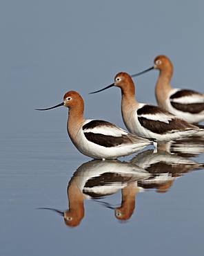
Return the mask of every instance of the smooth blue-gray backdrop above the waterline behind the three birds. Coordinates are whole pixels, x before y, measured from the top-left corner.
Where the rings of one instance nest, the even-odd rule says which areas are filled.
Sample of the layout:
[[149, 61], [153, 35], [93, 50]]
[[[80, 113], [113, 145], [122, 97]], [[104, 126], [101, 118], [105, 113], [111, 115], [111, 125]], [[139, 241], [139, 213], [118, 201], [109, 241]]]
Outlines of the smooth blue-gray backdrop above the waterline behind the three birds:
[[[203, 10], [203, 1], [1, 1], [1, 131], [61, 129], [65, 109], [45, 117], [34, 108], [70, 90], [83, 96], [85, 118], [123, 126], [119, 89], [88, 93], [160, 54], [174, 64], [172, 86], [202, 92]], [[158, 74], [134, 79], [139, 102], [156, 104]]]

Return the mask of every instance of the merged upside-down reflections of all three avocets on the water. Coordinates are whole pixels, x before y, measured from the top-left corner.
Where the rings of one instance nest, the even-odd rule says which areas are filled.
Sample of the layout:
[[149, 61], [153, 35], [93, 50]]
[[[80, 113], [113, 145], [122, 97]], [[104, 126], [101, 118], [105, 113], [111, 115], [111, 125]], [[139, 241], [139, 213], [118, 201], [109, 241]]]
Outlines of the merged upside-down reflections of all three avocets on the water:
[[[126, 221], [134, 212], [135, 197], [141, 190], [154, 188], [156, 192], [167, 192], [174, 180], [187, 172], [203, 168], [202, 163], [184, 157], [201, 154], [203, 149], [203, 139], [188, 137], [160, 145], [157, 152], [153, 149], [141, 152], [130, 163], [118, 160], [83, 163], [68, 184], [68, 210], [43, 209], [54, 210], [64, 217], [66, 225], [76, 227], [85, 216], [84, 200], [92, 199], [113, 209], [117, 219]], [[179, 154], [175, 154], [176, 151]], [[122, 194], [120, 205], [101, 201], [102, 197], [119, 190]]]

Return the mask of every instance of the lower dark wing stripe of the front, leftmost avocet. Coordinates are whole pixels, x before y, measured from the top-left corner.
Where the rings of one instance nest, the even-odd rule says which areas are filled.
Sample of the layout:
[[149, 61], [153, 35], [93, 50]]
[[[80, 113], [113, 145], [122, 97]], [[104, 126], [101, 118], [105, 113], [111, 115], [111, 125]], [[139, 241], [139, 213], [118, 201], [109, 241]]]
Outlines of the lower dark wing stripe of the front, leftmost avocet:
[[85, 138], [92, 143], [103, 147], [116, 147], [124, 143], [131, 143], [127, 136], [114, 137], [104, 134], [94, 134], [92, 132], [84, 132]]

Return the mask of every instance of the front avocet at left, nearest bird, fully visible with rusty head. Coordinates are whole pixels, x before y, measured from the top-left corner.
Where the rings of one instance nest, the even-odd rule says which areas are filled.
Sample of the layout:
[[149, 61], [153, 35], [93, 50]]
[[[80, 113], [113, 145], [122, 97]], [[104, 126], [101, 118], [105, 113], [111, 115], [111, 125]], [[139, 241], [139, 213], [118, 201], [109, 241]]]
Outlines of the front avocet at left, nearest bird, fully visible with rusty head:
[[69, 108], [68, 134], [74, 146], [85, 156], [113, 159], [138, 152], [150, 144], [156, 145], [156, 140], [136, 137], [110, 122], [84, 120], [84, 102], [76, 91], [68, 91], [62, 103], [48, 109], [60, 106]]

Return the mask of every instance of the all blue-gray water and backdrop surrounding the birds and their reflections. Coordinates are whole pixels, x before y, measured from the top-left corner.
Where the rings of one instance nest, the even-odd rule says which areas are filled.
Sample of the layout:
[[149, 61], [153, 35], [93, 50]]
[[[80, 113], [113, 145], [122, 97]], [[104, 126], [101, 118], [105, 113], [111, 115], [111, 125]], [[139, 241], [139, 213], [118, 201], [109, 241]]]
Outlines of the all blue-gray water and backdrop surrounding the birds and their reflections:
[[[74, 230], [56, 214], [34, 210], [67, 208], [68, 181], [90, 160], [70, 143], [67, 109], [34, 109], [75, 90], [85, 100], [85, 118], [125, 128], [119, 89], [88, 93], [120, 71], [149, 68], [161, 54], [174, 64], [172, 86], [204, 92], [203, 11], [200, 0], [0, 1], [3, 255], [203, 255], [202, 170], [178, 179], [166, 194], [139, 194], [124, 225], [90, 201]], [[134, 78], [139, 102], [156, 104], [158, 75]]]

